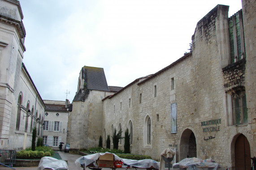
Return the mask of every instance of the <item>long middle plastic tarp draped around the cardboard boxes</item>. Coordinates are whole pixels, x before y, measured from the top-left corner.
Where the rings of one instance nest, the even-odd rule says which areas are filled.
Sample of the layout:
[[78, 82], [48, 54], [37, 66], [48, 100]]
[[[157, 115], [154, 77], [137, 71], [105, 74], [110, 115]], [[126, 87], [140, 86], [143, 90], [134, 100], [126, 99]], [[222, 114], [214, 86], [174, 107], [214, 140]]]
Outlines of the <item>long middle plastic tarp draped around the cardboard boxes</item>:
[[[106, 152], [107, 153], [107, 152]], [[76, 161], [75, 164], [78, 167], [86, 167], [90, 165], [91, 163], [94, 164], [95, 167], [98, 167], [96, 165], [96, 160], [100, 157], [100, 155], [104, 155], [105, 153], [94, 153], [91, 155], [79, 157]], [[154, 167], [155, 169], [159, 169], [160, 162], [152, 160], [152, 159], [143, 159], [143, 160], [132, 160], [132, 159], [123, 159], [118, 157], [116, 154], [112, 153], [114, 155], [115, 160], [119, 160], [123, 162], [122, 168], [126, 168], [128, 166], [135, 166], [137, 168], [150, 168]], [[126, 164], [126, 165], [124, 165]]]

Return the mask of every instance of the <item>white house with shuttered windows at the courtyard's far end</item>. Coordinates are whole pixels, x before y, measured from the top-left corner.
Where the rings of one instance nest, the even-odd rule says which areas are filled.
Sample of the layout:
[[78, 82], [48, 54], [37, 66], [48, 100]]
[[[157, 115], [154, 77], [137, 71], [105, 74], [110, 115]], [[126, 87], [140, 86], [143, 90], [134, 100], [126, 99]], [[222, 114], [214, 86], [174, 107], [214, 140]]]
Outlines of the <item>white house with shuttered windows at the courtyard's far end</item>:
[[66, 101], [43, 100], [43, 102], [45, 104], [43, 144], [49, 144], [57, 149], [60, 142], [66, 144], [69, 101], [66, 99]]

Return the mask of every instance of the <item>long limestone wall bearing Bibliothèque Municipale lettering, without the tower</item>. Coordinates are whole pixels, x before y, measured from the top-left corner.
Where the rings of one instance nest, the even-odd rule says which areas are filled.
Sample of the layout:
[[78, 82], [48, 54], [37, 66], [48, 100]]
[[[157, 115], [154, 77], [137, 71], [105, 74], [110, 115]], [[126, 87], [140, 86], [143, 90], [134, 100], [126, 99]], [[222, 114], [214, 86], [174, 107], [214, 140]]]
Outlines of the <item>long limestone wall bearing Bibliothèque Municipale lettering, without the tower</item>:
[[[255, 5], [255, 3], [252, 3]], [[253, 6], [251, 5], [251, 6]], [[248, 7], [249, 8], [249, 5]], [[248, 11], [249, 9], [247, 9]], [[251, 8], [250, 10], [255, 10]], [[246, 23], [255, 23], [254, 11], [244, 20], [246, 40], [246, 67], [232, 68], [233, 71], [222, 71], [229, 64], [227, 19], [228, 6], [217, 5], [196, 26], [192, 36], [193, 51], [184, 56], [178, 63], [157, 74], [150, 80], [137, 85], [130, 85], [120, 93], [104, 100], [103, 125], [106, 135], [111, 135], [111, 127], [122, 131], [133, 123], [133, 144], [131, 152], [146, 154], [160, 159], [160, 153], [169, 146], [177, 150], [177, 161], [187, 157], [186, 140], [191, 132], [195, 134], [197, 157], [213, 158], [221, 166], [234, 162], [234, 142], [239, 134], [247, 137], [251, 146], [251, 155], [255, 155], [255, 30]], [[246, 15], [244, 14], [246, 17]], [[251, 21], [253, 20], [253, 21]], [[249, 28], [247, 28], [249, 27]], [[247, 29], [251, 29], [246, 33]], [[219, 34], [222, 34], [221, 36]], [[249, 62], [248, 62], [248, 61]], [[231, 70], [232, 70], [231, 69]], [[245, 72], [245, 73], [244, 73]], [[235, 76], [236, 74], [237, 76]], [[174, 78], [174, 89], [172, 89]], [[245, 85], [248, 107], [248, 124], [232, 126], [230, 109], [227, 106], [229, 90], [227, 87], [237, 83]], [[156, 85], [156, 97], [154, 86]], [[231, 86], [232, 86], [231, 85]], [[142, 94], [142, 103], [139, 96]], [[129, 108], [131, 98], [131, 108]], [[170, 105], [177, 103], [177, 133], [171, 133]], [[122, 108], [120, 105], [122, 103]], [[115, 110], [114, 110], [115, 108]], [[146, 141], [145, 119], [151, 118], [152, 143]], [[159, 116], [159, 121], [158, 121]], [[204, 125], [207, 121], [211, 125]], [[207, 129], [215, 129], [208, 131]], [[209, 137], [211, 136], [211, 137]], [[112, 143], [112, 141], [111, 141]], [[123, 143], [120, 147], [123, 148]], [[142, 148], [142, 149], [141, 149]], [[233, 166], [233, 164], [232, 164]]]

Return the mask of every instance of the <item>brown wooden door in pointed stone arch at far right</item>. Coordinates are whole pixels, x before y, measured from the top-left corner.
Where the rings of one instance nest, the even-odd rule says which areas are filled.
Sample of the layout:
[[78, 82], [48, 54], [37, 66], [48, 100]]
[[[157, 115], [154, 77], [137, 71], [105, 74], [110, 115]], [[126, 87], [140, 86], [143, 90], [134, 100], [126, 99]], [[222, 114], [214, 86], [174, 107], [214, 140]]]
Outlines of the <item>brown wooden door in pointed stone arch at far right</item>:
[[234, 144], [235, 170], [250, 170], [251, 151], [247, 138], [241, 134]]

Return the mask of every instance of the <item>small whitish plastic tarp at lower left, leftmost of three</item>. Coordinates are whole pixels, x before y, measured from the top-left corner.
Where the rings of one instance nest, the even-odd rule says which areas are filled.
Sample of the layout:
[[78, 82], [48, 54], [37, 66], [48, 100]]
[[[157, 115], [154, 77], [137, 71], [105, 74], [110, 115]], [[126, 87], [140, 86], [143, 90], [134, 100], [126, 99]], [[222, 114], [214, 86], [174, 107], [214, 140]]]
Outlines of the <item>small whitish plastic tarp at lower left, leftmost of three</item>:
[[51, 168], [52, 170], [68, 170], [68, 164], [66, 161], [58, 160], [53, 157], [42, 157], [37, 170], [43, 170], [44, 168]]

